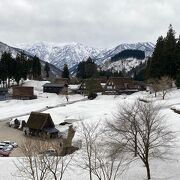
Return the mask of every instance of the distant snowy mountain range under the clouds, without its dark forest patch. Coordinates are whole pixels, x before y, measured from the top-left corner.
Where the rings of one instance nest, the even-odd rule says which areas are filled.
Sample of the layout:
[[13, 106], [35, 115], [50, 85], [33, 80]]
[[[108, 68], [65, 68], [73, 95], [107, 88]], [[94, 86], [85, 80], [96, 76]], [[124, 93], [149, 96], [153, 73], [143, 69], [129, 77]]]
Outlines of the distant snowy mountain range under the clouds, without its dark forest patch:
[[[125, 69], [129, 71], [132, 67], [139, 65], [140, 61], [137, 59], [126, 59], [121, 62], [111, 62], [111, 57], [119, 52], [127, 49], [142, 50], [145, 52], [145, 57], [151, 56], [154, 50], [154, 44], [150, 42], [134, 43], [134, 44], [120, 44], [112, 49], [97, 49], [84, 46], [80, 43], [59, 44], [59, 43], [45, 43], [38, 42], [34, 44], [18, 44], [21, 48], [33, 55], [37, 55], [40, 59], [47, 61], [59, 69], [62, 69], [66, 63], [69, 69], [74, 70], [77, 64], [86, 60], [89, 56], [104, 69], [116, 67], [116, 70]], [[108, 67], [107, 67], [108, 65]]]

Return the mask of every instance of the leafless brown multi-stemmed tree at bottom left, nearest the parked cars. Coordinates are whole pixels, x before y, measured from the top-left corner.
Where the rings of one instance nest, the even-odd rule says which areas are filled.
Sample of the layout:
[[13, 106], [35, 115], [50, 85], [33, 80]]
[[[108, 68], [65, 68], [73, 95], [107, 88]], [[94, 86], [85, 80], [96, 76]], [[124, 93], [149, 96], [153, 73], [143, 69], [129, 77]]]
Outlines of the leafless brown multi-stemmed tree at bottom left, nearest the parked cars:
[[62, 180], [73, 155], [61, 156], [60, 143], [27, 138], [20, 147], [24, 157], [15, 162], [19, 176], [32, 180]]

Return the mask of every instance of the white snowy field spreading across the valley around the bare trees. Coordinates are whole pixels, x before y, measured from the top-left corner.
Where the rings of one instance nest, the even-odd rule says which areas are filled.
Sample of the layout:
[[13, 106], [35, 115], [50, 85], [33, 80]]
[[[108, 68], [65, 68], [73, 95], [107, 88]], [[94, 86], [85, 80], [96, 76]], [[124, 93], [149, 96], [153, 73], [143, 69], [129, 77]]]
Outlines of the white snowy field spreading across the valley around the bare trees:
[[[159, 96], [154, 98], [148, 92], [138, 92], [129, 96], [108, 96], [99, 95], [94, 100], [85, 100], [66, 104], [64, 96], [57, 96], [55, 94], [42, 93], [41, 85], [36, 82], [27, 82], [29, 85], [36, 86], [35, 94], [38, 95], [36, 100], [8, 100], [0, 101], [1, 120], [9, 119], [13, 116], [21, 116], [23, 113], [30, 113], [31, 111], [39, 111], [43, 108], [44, 112], [50, 113], [56, 125], [67, 119], [82, 120], [84, 123], [92, 123], [100, 121], [103, 127], [105, 120], [112, 118], [118, 106], [123, 106], [134, 102], [137, 98], [155, 101], [162, 105], [161, 113], [165, 115], [168, 124], [173, 131], [180, 130], [180, 115], [171, 110], [171, 107], [180, 109], [180, 90], [173, 90], [167, 94], [165, 100]], [[80, 95], [70, 96], [70, 102], [84, 99]], [[63, 106], [56, 107], [63, 104]], [[47, 109], [46, 107], [54, 107]], [[27, 120], [28, 115], [22, 116], [22, 119]], [[77, 125], [78, 123], [75, 123]], [[177, 145], [172, 150], [171, 158], [168, 160], [151, 160], [152, 180], [179, 180], [180, 179], [180, 135], [177, 133]], [[76, 138], [76, 137], [75, 137]], [[15, 158], [0, 158], [0, 180], [16, 180], [16, 167], [13, 164]], [[86, 172], [75, 167], [68, 171], [64, 177], [65, 180], [88, 180]], [[94, 178], [95, 179], [95, 178]], [[141, 161], [135, 161], [130, 168], [120, 176], [119, 180], [144, 180], [146, 179], [146, 169]]]

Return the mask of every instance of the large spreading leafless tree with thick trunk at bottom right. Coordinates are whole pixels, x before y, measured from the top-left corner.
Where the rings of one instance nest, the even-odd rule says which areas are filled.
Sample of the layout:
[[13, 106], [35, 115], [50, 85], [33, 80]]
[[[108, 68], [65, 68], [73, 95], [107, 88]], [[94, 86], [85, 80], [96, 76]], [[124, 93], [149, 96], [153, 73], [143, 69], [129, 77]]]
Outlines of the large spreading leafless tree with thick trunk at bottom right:
[[136, 154], [146, 167], [148, 179], [151, 178], [149, 159], [163, 157], [174, 140], [174, 133], [159, 111], [159, 106], [136, 101], [130, 108], [120, 109], [118, 116], [107, 123], [112, 147], [118, 151], [124, 146], [123, 151]]

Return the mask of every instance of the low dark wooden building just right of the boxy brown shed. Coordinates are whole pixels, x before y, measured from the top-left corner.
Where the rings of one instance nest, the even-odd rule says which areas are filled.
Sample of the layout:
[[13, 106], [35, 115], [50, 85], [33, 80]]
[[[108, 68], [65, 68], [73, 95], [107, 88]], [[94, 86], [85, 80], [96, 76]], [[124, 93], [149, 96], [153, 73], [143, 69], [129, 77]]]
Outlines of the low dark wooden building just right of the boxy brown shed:
[[67, 84], [52, 84], [46, 83], [43, 85], [43, 92], [47, 93], [56, 93], [56, 94], [63, 94], [67, 92], [68, 85]]

